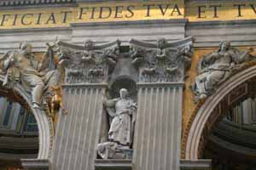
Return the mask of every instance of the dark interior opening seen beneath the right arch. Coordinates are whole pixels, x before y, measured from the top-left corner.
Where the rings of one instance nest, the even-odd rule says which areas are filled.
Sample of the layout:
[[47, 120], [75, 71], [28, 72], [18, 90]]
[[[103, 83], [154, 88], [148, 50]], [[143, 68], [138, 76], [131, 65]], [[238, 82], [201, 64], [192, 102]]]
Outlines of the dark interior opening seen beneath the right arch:
[[205, 133], [199, 158], [212, 159], [212, 170], [255, 169], [255, 114], [255, 98], [247, 96], [237, 100], [224, 111], [211, 131]]

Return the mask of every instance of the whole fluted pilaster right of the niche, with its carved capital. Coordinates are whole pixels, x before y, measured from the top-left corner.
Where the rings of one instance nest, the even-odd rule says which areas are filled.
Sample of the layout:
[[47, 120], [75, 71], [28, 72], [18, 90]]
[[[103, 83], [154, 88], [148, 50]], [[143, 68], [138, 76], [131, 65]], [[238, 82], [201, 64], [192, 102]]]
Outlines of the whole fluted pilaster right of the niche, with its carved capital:
[[190, 66], [192, 38], [157, 43], [131, 40], [137, 64], [137, 121], [133, 169], [180, 169], [183, 84]]

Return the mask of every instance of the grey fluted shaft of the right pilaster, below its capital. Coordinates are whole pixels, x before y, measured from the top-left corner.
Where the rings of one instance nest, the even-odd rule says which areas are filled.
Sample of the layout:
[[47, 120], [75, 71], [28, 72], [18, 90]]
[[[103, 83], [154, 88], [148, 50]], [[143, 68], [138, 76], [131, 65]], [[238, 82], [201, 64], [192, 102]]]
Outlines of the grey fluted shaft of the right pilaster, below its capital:
[[183, 83], [139, 83], [133, 164], [179, 169]]

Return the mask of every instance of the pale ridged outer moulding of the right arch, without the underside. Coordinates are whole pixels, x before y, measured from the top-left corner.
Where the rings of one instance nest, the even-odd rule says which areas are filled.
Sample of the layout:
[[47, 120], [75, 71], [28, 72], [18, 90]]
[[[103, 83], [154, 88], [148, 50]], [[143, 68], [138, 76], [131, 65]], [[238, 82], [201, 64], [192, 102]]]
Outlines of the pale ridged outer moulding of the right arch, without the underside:
[[204, 127], [207, 125], [209, 117], [212, 115], [212, 111], [220, 101], [227, 96], [227, 94], [230, 94], [233, 89], [253, 77], [256, 77], [256, 65], [253, 65], [252, 67], [230, 77], [226, 82], [220, 85], [215, 94], [208, 97], [204, 104], [201, 105], [189, 128], [188, 137], [185, 143], [185, 159], [198, 160], [201, 134], [203, 133]]

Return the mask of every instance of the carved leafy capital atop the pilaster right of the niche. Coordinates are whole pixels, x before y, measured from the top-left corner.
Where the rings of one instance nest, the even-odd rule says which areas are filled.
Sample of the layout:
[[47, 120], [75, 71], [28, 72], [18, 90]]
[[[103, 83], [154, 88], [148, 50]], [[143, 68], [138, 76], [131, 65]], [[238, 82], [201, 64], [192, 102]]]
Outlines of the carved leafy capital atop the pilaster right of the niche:
[[193, 55], [192, 37], [177, 42], [161, 38], [157, 43], [131, 40], [132, 64], [140, 82], [183, 82]]

